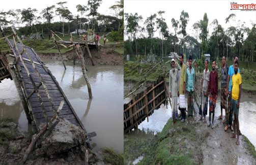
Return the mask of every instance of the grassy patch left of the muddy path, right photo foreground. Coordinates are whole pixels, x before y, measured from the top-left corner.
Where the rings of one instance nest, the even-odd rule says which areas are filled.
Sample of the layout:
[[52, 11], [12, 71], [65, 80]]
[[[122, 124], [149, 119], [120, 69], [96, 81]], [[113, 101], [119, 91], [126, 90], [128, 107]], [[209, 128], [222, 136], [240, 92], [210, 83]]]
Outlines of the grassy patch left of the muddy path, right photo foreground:
[[200, 146], [205, 135], [196, 133], [195, 126], [177, 122], [172, 119], [165, 124], [161, 133], [144, 146], [145, 156], [138, 164], [198, 164], [202, 158], [196, 154], [202, 151]]

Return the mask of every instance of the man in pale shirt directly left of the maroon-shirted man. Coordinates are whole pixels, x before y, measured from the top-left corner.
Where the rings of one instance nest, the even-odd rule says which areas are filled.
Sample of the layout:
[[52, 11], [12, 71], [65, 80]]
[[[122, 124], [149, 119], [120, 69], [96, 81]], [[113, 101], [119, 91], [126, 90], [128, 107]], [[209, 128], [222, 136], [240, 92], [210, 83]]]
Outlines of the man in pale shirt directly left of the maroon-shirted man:
[[[204, 122], [206, 122], [206, 115], [207, 115], [207, 110], [208, 110], [208, 83], [210, 80], [210, 72], [208, 70], [208, 64], [209, 61], [208, 59], [205, 60], [205, 70], [203, 72], [203, 76], [202, 76], [202, 81], [201, 81], [201, 93], [202, 93], [202, 109], [199, 110], [199, 115], [200, 119], [199, 120], [203, 120], [203, 116], [204, 116]], [[202, 114], [203, 111], [203, 114]]]

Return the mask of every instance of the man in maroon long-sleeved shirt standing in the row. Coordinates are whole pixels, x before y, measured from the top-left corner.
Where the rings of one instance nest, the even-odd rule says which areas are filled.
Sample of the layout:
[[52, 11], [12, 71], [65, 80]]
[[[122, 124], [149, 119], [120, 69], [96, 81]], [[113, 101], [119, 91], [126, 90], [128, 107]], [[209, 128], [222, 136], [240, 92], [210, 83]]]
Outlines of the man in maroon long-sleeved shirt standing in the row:
[[209, 85], [208, 85], [208, 93], [210, 94], [209, 100], [209, 124], [207, 126], [211, 126], [211, 114], [212, 114], [212, 129], [213, 129], [213, 121], [214, 121], [214, 113], [216, 107], [216, 100], [218, 96], [218, 73], [215, 71], [216, 61], [212, 60], [212, 71], [210, 73]]

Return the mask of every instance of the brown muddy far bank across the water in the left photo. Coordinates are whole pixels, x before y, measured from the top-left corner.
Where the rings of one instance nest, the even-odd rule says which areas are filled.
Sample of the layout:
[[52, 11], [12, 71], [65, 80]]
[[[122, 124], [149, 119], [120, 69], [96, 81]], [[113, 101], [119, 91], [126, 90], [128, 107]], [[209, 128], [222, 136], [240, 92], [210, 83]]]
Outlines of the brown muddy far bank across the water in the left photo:
[[[123, 55], [114, 51], [111, 48], [101, 47], [100, 50], [90, 49], [93, 60], [96, 65], [123, 65], [124, 58]], [[59, 53], [38, 53], [42, 60], [44, 59], [53, 59], [61, 61], [61, 57]], [[73, 56], [73, 51], [66, 52], [62, 54], [64, 61], [73, 61], [75, 58], [75, 62], [80, 62], [80, 59], [75, 54]], [[84, 57], [84, 61], [86, 64], [92, 64], [91, 59], [89, 57], [88, 52], [86, 51], [86, 56]]]

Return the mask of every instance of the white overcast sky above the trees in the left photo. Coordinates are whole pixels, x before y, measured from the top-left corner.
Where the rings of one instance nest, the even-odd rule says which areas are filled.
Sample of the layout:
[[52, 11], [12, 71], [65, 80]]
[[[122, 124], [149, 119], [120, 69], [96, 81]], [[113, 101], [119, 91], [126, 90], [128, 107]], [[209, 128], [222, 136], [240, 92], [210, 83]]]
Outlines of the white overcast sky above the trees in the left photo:
[[[98, 13], [100, 14], [104, 14], [104, 15], [112, 15], [114, 16], [114, 12], [113, 10], [109, 9], [110, 6], [117, 4], [116, 3], [117, 0], [102, 0], [102, 3], [100, 5], [100, 7], [98, 8]], [[39, 13], [41, 13], [41, 11], [43, 9], [45, 9], [47, 6], [52, 6], [55, 5], [56, 3], [59, 2], [65, 2], [65, 0], [61, 1], [61, 0], [40, 0], [40, 1], [36, 1], [36, 0], [5, 0], [5, 1], [1, 1], [1, 5], [0, 5], [0, 12], [4, 11], [8, 11], [10, 9], [27, 9], [27, 8], [32, 8], [32, 9], [37, 9], [38, 12], [36, 13], [36, 16], [39, 16]], [[82, 6], [86, 6], [88, 0], [85, 1], [71, 1], [71, 0], [66, 0], [67, 4], [65, 5], [66, 7], [68, 7], [68, 9], [71, 11], [71, 13], [76, 16], [77, 14], [80, 15], [79, 12], [77, 12], [76, 10], [76, 5], [82, 5]], [[56, 17], [54, 21], [59, 21], [59, 17]]]

